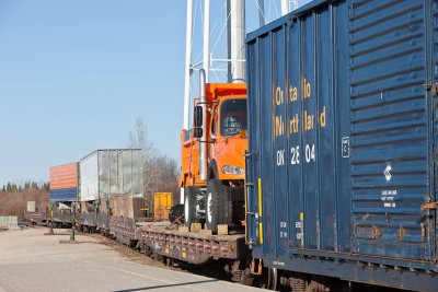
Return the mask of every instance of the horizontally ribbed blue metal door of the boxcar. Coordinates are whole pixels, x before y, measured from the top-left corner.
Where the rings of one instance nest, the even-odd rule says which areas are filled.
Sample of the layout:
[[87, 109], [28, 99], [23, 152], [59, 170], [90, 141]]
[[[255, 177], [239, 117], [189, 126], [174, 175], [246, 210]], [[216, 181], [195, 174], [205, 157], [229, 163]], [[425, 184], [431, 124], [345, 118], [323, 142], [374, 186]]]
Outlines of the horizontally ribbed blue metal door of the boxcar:
[[354, 252], [430, 259], [424, 1], [351, 1]]

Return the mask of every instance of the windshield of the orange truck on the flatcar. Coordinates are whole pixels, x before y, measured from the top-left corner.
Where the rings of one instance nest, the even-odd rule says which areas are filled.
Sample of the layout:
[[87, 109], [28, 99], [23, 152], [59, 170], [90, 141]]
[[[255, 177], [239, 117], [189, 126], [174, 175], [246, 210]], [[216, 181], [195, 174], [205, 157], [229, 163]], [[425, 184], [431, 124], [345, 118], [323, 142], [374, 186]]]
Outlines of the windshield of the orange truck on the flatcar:
[[246, 100], [224, 101], [221, 106], [220, 135], [234, 136], [246, 130]]

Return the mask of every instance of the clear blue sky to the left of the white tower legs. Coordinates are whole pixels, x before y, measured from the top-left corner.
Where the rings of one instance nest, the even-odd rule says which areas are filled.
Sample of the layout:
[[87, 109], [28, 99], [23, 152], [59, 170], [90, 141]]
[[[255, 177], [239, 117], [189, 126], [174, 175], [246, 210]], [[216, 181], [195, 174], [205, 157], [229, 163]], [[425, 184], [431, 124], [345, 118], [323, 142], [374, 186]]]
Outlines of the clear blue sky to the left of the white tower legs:
[[140, 116], [178, 160], [185, 10], [183, 0], [0, 1], [0, 184], [48, 180], [51, 165], [125, 148]]

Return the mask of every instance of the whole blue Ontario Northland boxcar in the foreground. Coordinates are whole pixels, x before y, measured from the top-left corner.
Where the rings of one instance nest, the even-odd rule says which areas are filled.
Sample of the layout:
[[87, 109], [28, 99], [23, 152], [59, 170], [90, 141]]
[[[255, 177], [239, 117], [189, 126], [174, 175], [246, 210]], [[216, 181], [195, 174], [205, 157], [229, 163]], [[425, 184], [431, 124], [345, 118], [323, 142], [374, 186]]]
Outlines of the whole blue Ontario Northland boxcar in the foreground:
[[437, 0], [339, 0], [249, 34], [246, 241], [270, 288], [437, 291]]

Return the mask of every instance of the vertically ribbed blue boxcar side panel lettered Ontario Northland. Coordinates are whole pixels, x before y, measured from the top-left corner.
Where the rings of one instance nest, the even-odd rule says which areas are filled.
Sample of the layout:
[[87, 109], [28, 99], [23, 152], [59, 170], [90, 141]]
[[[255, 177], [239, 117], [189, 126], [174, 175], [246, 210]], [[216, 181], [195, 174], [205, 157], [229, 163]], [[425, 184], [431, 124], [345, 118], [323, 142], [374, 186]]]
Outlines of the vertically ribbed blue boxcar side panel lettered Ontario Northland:
[[249, 40], [249, 240], [266, 265], [290, 248], [350, 248], [349, 124], [337, 115], [348, 113], [347, 22], [346, 5], [328, 4]]

